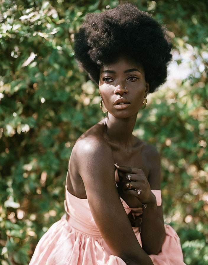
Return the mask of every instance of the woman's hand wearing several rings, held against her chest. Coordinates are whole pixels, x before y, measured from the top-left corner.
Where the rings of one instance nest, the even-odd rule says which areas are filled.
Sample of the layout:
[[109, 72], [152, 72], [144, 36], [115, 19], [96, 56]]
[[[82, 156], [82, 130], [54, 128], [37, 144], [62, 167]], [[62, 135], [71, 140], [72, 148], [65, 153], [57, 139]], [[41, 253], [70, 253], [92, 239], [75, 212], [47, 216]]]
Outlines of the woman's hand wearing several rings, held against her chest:
[[[150, 184], [142, 169], [131, 167], [118, 167], [119, 179], [122, 179], [122, 189], [125, 193], [133, 195], [141, 203], [156, 203], [155, 195], [151, 192]], [[129, 180], [130, 179], [130, 180]]]

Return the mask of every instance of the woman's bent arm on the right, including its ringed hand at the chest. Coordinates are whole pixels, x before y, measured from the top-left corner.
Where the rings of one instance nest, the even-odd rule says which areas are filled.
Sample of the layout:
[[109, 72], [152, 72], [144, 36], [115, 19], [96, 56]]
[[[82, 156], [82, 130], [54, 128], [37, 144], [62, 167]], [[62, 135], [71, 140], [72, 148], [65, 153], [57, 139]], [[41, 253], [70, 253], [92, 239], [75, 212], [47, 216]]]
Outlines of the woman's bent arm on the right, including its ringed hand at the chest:
[[[161, 251], [162, 244], [165, 240], [165, 228], [163, 222], [162, 206], [157, 206], [155, 195], [151, 190], [160, 190], [160, 158], [155, 148], [148, 148], [145, 154], [148, 164], [150, 165], [148, 180], [141, 169], [119, 167], [118, 170], [122, 175], [131, 176], [131, 181], [124, 182], [124, 192], [134, 195], [141, 203], [147, 204], [143, 209], [141, 241], [142, 248], [147, 254], [158, 254]], [[126, 175], [123, 176], [126, 179]], [[130, 186], [128, 186], [130, 184]], [[136, 190], [141, 190], [138, 195]]]

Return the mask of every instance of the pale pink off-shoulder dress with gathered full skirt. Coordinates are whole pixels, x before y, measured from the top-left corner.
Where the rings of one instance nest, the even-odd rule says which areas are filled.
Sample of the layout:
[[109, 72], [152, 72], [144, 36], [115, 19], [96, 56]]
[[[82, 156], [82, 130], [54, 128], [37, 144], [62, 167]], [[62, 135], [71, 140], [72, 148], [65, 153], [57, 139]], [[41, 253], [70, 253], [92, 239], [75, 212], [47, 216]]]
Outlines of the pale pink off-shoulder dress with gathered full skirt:
[[[161, 191], [152, 190], [161, 205]], [[121, 198], [127, 214], [142, 213], [142, 208], [130, 209]], [[29, 265], [126, 265], [119, 257], [111, 255], [108, 245], [95, 224], [87, 199], [69, 193], [65, 186], [66, 213], [41, 237]], [[142, 246], [139, 227], [133, 227]], [[172, 227], [165, 224], [166, 237], [162, 251], [150, 255], [154, 265], [185, 265], [180, 239]], [[144, 264], [142, 264], [144, 265]]]

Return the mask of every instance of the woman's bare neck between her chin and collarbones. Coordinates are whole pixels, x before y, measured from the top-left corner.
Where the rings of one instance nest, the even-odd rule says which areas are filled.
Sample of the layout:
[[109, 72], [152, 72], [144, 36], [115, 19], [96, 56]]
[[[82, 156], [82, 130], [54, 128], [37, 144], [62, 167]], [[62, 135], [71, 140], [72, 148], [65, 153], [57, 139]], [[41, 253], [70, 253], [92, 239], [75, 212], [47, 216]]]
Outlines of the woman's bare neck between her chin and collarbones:
[[131, 117], [118, 119], [108, 113], [105, 118], [106, 138], [123, 146], [125, 149], [132, 144], [132, 132], [137, 119], [137, 113]]

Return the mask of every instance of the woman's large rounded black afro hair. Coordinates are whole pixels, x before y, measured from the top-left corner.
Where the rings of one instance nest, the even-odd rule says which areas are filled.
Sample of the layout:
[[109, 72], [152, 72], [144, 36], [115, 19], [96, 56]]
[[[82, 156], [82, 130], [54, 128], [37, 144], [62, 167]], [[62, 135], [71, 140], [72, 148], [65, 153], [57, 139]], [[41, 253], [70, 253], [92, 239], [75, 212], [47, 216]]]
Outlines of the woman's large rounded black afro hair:
[[165, 31], [150, 14], [130, 3], [87, 14], [75, 34], [75, 59], [99, 85], [100, 68], [126, 55], [142, 64], [152, 93], [165, 82], [172, 57]]

